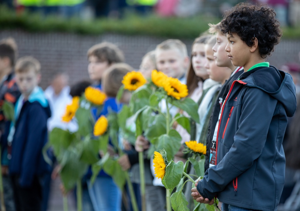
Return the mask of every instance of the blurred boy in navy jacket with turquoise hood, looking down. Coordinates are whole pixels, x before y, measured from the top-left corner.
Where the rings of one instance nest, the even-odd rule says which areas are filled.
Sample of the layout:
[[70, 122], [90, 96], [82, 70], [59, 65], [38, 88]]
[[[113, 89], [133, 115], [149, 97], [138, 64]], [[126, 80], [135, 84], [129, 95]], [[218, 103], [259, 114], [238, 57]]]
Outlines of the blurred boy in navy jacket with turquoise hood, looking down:
[[41, 65], [37, 59], [24, 56], [16, 62], [16, 82], [21, 96], [15, 106], [15, 123], [10, 129], [9, 171], [13, 181], [16, 210], [41, 210], [44, 173], [50, 170], [42, 149], [47, 142], [47, 119], [50, 107], [41, 81]]

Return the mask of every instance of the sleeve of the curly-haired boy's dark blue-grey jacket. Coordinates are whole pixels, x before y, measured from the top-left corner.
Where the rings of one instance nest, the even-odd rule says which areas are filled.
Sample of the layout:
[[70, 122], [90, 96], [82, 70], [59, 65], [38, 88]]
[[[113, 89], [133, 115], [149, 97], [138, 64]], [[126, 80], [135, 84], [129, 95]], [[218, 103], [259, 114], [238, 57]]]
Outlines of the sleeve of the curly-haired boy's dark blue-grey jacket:
[[224, 158], [216, 166], [210, 167], [198, 183], [197, 190], [205, 198], [214, 198], [217, 192], [249, 169], [264, 149], [277, 100], [251, 87], [245, 88], [241, 96], [242, 107], [237, 117], [238, 129], [234, 142]]

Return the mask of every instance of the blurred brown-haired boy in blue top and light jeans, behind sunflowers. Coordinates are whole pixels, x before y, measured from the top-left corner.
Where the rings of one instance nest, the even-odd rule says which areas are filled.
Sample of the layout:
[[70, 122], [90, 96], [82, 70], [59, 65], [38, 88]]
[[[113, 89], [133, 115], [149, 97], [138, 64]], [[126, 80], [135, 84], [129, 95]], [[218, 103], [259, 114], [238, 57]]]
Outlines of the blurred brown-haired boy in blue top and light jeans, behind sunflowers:
[[[101, 79], [104, 71], [111, 65], [124, 61], [124, 55], [121, 50], [114, 44], [103, 42], [92, 46], [88, 52], [88, 74], [91, 80], [95, 81], [94, 87], [102, 90]], [[114, 97], [108, 97], [105, 100], [104, 108], [98, 114], [96, 108], [92, 108], [91, 112], [95, 120], [101, 115], [107, 115], [109, 111], [118, 112], [119, 106]], [[91, 169], [88, 175], [91, 176]], [[89, 194], [94, 210], [104, 211], [121, 211], [122, 195], [121, 190], [113, 182], [113, 179], [103, 170], [98, 174], [93, 185], [87, 181]], [[110, 192], [110, 194], [107, 194]]]

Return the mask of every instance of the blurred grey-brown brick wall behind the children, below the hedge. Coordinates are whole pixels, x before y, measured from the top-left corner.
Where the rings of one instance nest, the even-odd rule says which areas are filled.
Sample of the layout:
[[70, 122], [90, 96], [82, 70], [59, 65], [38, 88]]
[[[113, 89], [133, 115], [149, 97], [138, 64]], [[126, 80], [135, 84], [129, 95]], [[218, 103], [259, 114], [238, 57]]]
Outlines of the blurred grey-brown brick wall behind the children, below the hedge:
[[[56, 71], [67, 72], [70, 75], [71, 85], [81, 79], [88, 79], [86, 52], [99, 42], [107, 41], [118, 45], [125, 54], [125, 61], [137, 69], [143, 55], [164, 41], [164, 38], [119, 34], [83, 36], [70, 33], [29, 33], [22, 30], [0, 31], [0, 39], [8, 36], [16, 40], [19, 56], [31, 55], [41, 62], [42, 88], [49, 85], [52, 74]], [[190, 52], [193, 40], [182, 39], [182, 41]], [[268, 62], [278, 68], [286, 62], [299, 63], [299, 51], [300, 40], [282, 40]]]

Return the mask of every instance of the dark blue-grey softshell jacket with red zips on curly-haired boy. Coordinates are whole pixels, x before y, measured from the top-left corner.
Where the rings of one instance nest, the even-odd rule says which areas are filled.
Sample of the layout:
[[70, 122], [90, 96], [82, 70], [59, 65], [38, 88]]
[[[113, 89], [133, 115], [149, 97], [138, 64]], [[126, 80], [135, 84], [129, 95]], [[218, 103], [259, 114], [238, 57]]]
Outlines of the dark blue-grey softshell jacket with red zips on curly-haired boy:
[[221, 108], [217, 165], [205, 172], [199, 193], [246, 209], [277, 210], [285, 174], [282, 141], [295, 110], [291, 75], [272, 66], [241, 74]]

